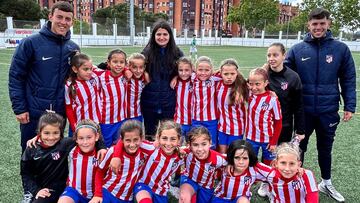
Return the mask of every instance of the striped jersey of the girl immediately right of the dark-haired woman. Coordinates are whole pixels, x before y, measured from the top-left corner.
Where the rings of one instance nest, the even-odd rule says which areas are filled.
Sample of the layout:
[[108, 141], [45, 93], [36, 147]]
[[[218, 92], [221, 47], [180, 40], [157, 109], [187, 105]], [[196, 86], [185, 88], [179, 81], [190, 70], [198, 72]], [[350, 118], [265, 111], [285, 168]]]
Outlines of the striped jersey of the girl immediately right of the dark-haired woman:
[[178, 79], [176, 90], [176, 108], [174, 121], [181, 125], [191, 124], [193, 85], [191, 80]]

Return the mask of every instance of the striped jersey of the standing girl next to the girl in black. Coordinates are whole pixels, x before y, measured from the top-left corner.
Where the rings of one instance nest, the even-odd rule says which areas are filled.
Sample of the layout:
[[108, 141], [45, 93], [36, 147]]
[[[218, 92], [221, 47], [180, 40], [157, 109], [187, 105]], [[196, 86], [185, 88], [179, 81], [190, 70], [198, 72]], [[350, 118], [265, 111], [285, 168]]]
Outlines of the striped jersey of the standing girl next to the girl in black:
[[273, 136], [274, 120], [281, 119], [281, 108], [277, 97], [269, 91], [250, 95], [246, 122], [246, 138], [255, 142], [268, 143]]

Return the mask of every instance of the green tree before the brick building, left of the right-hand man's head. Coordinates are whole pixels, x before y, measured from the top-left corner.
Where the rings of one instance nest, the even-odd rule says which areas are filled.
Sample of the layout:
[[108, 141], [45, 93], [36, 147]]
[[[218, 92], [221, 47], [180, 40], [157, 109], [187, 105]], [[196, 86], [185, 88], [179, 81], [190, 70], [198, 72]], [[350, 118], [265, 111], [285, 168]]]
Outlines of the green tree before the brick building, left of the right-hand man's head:
[[278, 4], [276, 0], [242, 0], [239, 6], [230, 8], [227, 21], [246, 29], [264, 29], [266, 24], [275, 24], [279, 16]]

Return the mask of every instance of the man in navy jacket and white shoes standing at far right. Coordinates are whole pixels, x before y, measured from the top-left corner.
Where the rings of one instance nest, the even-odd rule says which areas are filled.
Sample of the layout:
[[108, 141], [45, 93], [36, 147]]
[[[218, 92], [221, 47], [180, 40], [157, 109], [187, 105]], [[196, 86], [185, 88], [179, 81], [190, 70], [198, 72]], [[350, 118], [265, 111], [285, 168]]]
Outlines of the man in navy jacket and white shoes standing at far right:
[[343, 121], [349, 121], [355, 112], [356, 75], [349, 48], [334, 40], [328, 30], [329, 15], [327, 10], [321, 8], [310, 12], [309, 33], [303, 42], [289, 50], [285, 65], [299, 74], [303, 84], [306, 129], [300, 148], [306, 152], [309, 137], [315, 130], [322, 177], [319, 190], [343, 202], [344, 197], [331, 184], [331, 150], [340, 122], [340, 95], [344, 100]]

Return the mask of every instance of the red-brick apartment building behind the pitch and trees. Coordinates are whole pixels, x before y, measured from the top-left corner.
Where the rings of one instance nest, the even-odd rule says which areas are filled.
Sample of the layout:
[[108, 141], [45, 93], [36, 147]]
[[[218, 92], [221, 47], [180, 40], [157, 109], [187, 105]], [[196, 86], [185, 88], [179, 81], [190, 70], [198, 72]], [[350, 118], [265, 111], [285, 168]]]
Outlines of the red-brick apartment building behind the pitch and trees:
[[[51, 8], [57, 0], [39, 0], [41, 7]], [[83, 21], [91, 23], [91, 15], [99, 8], [106, 8], [120, 3], [130, 3], [130, 0], [69, 0], [74, 6], [74, 15]], [[239, 36], [241, 27], [236, 23], [226, 22], [226, 16], [232, 6], [240, 4], [241, 0], [134, 0], [134, 5], [145, 12], [165, 13], [169, 23], [177, 34], [182, 35], [185, 28], [190, 33], [197, 30], [218, 30], [232, 36]], [[298, 7], [289, 3], [279, 5], [279, 23], [286, 23], [299, 14]], [[214, 36], [214, 32], [212, 34]]]

